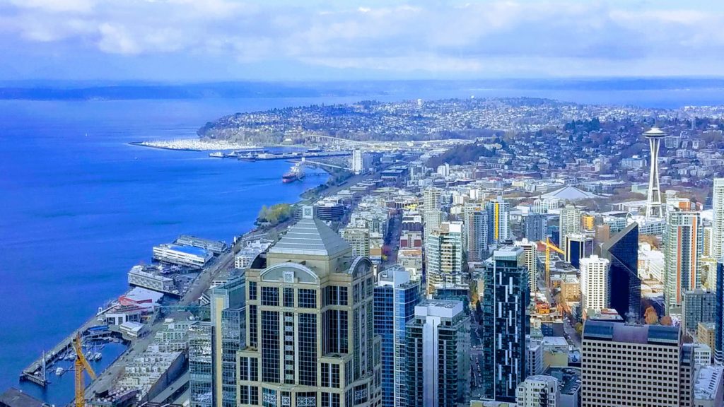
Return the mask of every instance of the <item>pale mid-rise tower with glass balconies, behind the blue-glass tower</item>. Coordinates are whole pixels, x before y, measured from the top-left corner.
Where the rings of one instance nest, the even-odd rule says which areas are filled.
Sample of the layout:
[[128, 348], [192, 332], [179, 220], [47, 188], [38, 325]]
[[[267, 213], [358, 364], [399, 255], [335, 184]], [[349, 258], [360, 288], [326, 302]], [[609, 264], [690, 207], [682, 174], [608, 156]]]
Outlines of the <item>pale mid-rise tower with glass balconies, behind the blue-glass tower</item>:
[[426, 243], [427, 292], [463, 282], [463, 222], [442, 222]]

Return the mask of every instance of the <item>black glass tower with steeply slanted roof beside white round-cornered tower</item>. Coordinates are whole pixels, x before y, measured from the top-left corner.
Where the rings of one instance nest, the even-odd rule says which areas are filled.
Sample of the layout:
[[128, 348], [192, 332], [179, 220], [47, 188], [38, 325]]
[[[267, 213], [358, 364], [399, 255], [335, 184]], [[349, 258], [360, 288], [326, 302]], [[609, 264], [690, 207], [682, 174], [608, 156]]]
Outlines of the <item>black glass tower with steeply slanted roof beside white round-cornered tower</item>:
[[610, 307], [624, 320], [641, 318], [639, 224], [631, 223], [604, 243], [601, 257], [610, 261]]

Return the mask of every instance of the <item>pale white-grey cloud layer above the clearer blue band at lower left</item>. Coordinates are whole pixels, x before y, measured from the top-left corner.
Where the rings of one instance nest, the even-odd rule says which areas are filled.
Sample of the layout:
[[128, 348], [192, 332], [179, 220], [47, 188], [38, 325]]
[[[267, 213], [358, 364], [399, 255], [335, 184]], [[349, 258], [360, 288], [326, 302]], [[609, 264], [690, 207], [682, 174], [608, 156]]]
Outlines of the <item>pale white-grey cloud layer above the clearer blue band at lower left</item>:
[[702, 61], [724, 68], [724, 9], [705, 1], [0, 0], [0, 14], [0, 33], [20, 41], [4, 48], [58, 43], [99, 59], [225, 56], [431, 75], [623, 75], [654, 60], [682, 75]]

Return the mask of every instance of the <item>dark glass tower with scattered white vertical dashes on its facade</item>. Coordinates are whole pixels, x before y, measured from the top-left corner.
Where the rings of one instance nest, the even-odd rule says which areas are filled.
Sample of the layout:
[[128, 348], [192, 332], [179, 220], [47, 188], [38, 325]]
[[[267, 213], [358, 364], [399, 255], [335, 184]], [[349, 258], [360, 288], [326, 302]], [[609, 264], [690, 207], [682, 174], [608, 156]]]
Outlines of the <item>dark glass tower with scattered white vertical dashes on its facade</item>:
[[516, 387], [526, 378], [529, 290], [523, 248], [505, 246], [485, 261], [481, 304], [484, 398], [513, 402]]

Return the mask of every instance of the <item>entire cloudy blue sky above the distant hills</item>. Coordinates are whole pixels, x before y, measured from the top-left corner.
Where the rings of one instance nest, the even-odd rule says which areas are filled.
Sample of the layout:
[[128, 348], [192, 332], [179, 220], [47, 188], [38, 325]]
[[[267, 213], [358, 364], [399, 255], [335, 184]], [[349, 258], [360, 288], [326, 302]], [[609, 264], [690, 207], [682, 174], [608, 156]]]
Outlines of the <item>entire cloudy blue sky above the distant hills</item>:
[[724, 76], [721, 0], [0, 0], [0, 80]]

